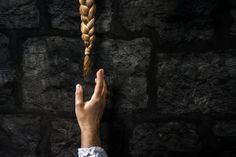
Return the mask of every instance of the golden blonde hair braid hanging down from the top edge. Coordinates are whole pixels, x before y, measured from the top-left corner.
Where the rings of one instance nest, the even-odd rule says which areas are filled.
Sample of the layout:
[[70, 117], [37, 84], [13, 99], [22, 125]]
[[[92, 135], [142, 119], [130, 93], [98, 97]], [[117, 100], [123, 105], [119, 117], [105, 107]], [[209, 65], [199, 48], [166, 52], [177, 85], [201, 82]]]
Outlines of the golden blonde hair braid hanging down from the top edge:
[[90, 56], [92, 52], [94, 35], [94, 15], [96, 12], [95, 0], [79, 0], [81, 15], [81, 33], [85, 45], [84, 57], [84, 78], [88, 79], [90, 73]]

